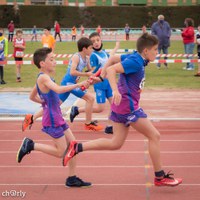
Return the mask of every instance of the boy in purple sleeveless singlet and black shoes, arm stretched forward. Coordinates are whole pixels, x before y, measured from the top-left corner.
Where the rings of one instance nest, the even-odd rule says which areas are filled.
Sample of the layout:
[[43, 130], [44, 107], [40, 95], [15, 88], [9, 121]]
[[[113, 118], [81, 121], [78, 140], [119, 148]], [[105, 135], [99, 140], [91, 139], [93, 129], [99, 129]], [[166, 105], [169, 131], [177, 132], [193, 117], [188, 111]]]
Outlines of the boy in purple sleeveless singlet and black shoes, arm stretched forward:
[[[20, 163], [26, 154], [31, 151], [40, 151], [51, 156], [62, 158], [67, 143], [74, 140], [74, 136], [62, 117], [60, 109], [60, 100], [58, 94], [68, 92], [84, 85], [88, 87], [88, 83], [82, 82], [73, 85], [59, 86], [51, 78], [55, 72], [56, 61], [50, 48], [41, 48], [35, 51], [33, 60], [35, 65], [40, 69], [36, 85], [34, 86], [30, 98], [36, 103], [42, 104], [43, 118], [42, 131], [48, 134], [54, 145], [47, 145], [34, 142], [29, 138], [24, 138], [17, 154], [17, 162]], [[86, 187], [91, 183], [84, 182], [75, 176], [76, 161], [72, 159], [69, 163], [69, 177], [65, 185], [67, 187]]]

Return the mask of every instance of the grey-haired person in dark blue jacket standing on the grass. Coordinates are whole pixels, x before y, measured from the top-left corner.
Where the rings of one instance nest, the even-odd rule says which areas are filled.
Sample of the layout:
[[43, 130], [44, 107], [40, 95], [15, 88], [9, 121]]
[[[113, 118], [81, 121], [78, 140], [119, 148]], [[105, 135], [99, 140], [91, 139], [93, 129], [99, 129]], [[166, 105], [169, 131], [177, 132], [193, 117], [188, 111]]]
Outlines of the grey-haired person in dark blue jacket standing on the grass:
[[[171, 27], [167, 21], [164, 20], [165, 17], [163, 15], [158, 15], [158, 21], [154, 22], [151, 27], [152, 35], [156, 35], [159, 40], [158, 45], [158, 53], [161, 51], [164, 54], [168, 54], [168, 48], [170, 46], [170, 37], [171, 37]], [[160, 57], [158, 57], [160, 59]], [[167, 56], [164, 57], [167, 59]], [[165, 67], [167, 67], [167, 63], [164, 63]], [[161, 64], [158, 63], [157, 67], [160, 69]]]

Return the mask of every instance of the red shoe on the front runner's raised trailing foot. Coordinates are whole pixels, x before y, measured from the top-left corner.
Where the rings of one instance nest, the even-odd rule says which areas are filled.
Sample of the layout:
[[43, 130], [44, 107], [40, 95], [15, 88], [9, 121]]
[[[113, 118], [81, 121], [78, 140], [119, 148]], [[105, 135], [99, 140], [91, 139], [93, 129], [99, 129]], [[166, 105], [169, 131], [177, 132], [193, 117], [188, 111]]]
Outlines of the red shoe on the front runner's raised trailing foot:
[[63, 166], [66, 166], [68, 161], [76, 155], [76, 141], [71, 141], [63, 155]]

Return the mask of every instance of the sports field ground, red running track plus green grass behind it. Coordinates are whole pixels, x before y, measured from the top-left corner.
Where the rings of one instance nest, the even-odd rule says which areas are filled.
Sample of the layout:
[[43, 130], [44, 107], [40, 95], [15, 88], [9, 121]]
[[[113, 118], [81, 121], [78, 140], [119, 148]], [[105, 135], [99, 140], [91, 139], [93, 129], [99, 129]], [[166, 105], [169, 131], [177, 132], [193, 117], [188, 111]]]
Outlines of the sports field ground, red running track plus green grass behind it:
[[[105, 42], [104, 48], [111, 49], [114, 45], [114, 42]], [[27, 42], [25, 53], [32, 54], [39, 47], [40, 43]], [[135, 42], [121, 42], [120, 48], [134, 49]], [[76, 43], [58, 42], [55, 53], [72, 54], [76, 51]], [[173, 41], [169, 52], [183, 53], [181, 41]], [[11, 44], [9, 53], [12, 53]], [[195, 71], [184, 71], [183, 67], [184, 64], [176, 63], [169, 64], [168, 69], [162, 67], [158, 70], [155, 64], [150, 64], [146, 70], [145, 88], [141, 95], [141, 107], [161, 133], [163, 167], [166, 172], [172, 170], [177, 178], [183, 178], [180, 186], [154, 186], [148, 142], [141, 134], [130, 129], [120, 150], [90, 151], [77, 155], [77, 175], [91, 181], [93, 187], [65, 188], [68, 168], [61, 165], [60, 159], [32, 152], [21, 164], [16, 163], [17, 150], [24, 137], [51, 144], [51, 138], [40, 131], [41, 122], [36, 122], [31, 130], [22, 132], [22, 118], [14, 121], [13, 118], [6, 118], [0, 120], [0, 199], [21, 199], [24, 195], [25, 199], [29, 200], [198, 200], [200, 78], [193, 76]], [[57, 66], [55, 79], [58, 83], [66, 68], [66, 65]], [[0, 91], [29, 91], [35, 84], [37, 73], [38, 69], [35, 66], [24, 65], [22, 82], [16, 83], [15, 66], [6, 66], [7, 84], [1, 85]], [[1, 101], [0, 104], [2, 103], [4, 102]], [[76, 104], [81, 106], [84, 102], [80, 100]], [[107, 109], [103, 113], [93, 115], [94, 119], [98, 119], [104, 126], [109, 112], [109, 105], [106, 106]], [[84, 114], [80, 114], [73, 124], [69, 123], [78, 141], [112, 137], [105, 135], [103, 131], [83, 130], [84, 117]], [[67, 115], [66, 120], [69, 121]]]

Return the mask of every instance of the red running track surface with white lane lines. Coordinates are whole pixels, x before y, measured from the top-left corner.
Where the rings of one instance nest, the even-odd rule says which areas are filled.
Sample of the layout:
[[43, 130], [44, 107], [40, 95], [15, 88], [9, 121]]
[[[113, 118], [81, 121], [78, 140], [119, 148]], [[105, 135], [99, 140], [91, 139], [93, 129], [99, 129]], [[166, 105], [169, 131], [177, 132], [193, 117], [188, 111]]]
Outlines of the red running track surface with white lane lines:
[[[148, 97], [151, 98], [151, 96]], [[198, 95], [192, 97], [191, 101], [195, 98], [198, 100], [197, 97]], [[185, 98], [186, 104], [187, 100]], [[185, 105], [181, 104], [188, 110], [187, 116], [176, 110], [180, 104], [172, 105], [172, 101], [165, 103], [166, 98], [164, 105], [168, 106], [165, 107], [165, 112], [164, 107], [159, 107], [158, 103], [152, 105], [156, 107], [156, 110], [151, 112], [151, 107], [148, 106], [149, 101], [147, 104], [143, 101], [143, 108], [150, 110], [150, 113], [153, 113], [152, 117], [157, 117], [156, 113], [159, 111], [165, 113], [165, 117], [199, 117], [200, 113], [192, 112], [191, 109], [191, 113], [188, 113], [189, 108]], [[174, 112], [171, 112], [171, 108]], [[196, 109], [198, 110], [199, 107]], [[125, 145], [118, 151], [93, 151], [78, 155], [77, 175], [91, 181], [93, 187], [65, 188], [68, 168], [62, 167], [61, 160], [32, 152], [23, 159], [21, 164], [15, 161], [17, 150], [25, 136], [35, 141], [51, 143], [51, 138], [40, 131], [41, 122], [35, 123], [30, 131], [22, 133], [20, 121], [0, 121], [0, 199], [13, 199], [13, 197], [4, 198], [3, 195], [8, 195], [12, 191], [21, 191], [26, 192], [25, 197], [29, 200], [199, 200], [200, 122], [173, 120], [153, 123], [161, 133], [161, 156], [164, 170], [172, 170], [176, 177], [183, 178], [183, 184], [178, 187], [153, 186], [153, 169], [147, 153], [147, 142], [142, 135], [131, 130]], [[104, 135], [103, 132], [82, 130], [82, 125], [82, 122], [74, 122], [71, 125], [77, 140], [111, 137]]]

